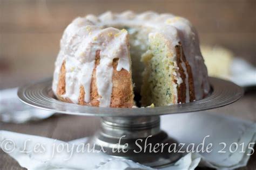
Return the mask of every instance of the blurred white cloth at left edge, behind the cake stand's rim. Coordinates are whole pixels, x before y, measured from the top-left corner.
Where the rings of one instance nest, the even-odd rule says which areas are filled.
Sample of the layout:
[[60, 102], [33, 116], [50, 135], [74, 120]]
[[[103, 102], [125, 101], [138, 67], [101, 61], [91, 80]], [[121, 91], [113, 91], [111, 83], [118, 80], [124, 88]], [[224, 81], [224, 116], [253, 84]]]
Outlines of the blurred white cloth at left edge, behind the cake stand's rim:
[[3, 122], [25, 123], [45, 119], [54, 114], [30, 107], [17, 97], [18, 88], [0, 90], [0, 119]]

